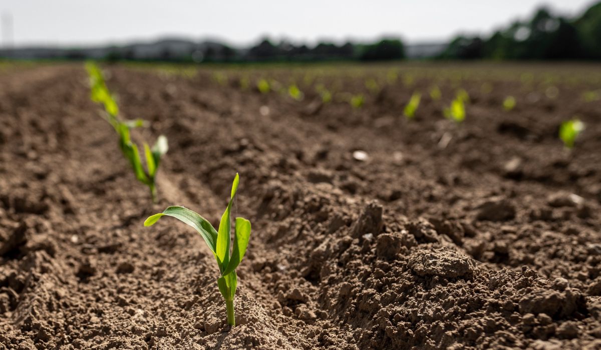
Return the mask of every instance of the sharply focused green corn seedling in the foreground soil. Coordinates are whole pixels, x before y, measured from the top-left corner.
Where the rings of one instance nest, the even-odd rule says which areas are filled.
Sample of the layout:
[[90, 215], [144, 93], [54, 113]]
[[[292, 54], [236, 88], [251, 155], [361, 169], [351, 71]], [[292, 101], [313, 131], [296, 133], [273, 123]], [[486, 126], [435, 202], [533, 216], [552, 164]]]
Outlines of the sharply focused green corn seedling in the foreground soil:
[[234, 247], [231, 249], [230, 253], [230, 211], [234, 198], [236, 197], [239, 181], [240, 178], [238, 173], [236, 173], [236, 177], [234, 177], [234, 182], [231, 186], [230, 202], [228, 203], [224, 214], [221, 216], [219, 230], [213, 228], [204, 217], [184, 207], [168, 207], [163, 213], [154, 214], [144, 221], [144, 226], [151, 226], [159, 221], [162, 216], [171, 216], [192, 226], [192, 228], [196, 229], [198, 234], [203, 237], [205, 243], [209, 246], [209, 249], [215, 256], [217, 265], [219, 266], [220, 277], [217, 280], [217, 285], [219, 286], [219, 292], [221, 292], [221, 295], [225, 299], [227, 323], [232, 327], [236, 325], [236, 318], [234, 315], [234, 295], [236, 295], [236, 287], [238, 285], [236, 268], [240, 265], [240, 262], [242, 262], [242, 258], [244, 258], [246, 247], [248, 247], [248, 240], [251, 237], [251, 222], [243, 217], [237, 217]]

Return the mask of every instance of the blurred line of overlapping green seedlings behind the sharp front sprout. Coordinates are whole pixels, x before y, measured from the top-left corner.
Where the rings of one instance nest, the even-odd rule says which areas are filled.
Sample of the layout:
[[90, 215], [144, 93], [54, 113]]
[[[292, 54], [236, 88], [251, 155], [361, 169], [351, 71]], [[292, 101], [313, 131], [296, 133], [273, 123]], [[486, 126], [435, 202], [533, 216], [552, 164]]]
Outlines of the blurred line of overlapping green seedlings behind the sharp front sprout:
[[153, 202], [156, 202], [156, 173], [159, 169], [160, 158], [165, 155], [168, 150], [167, 138], [163, 135], [159, 136], [152, 148], [150, 148], [147, 143], [144, 143], [144, 156], [146, 159], [146, 169], [144, 169], [138, 145], [132, 142], [130, 136], [130, 130], [135, 127], [143, 126], [144, 121], [142, 119], [121, 120], [118, 116], [119, 108], [117, 102], [115, 102], [115, 99], [112, 97], [111, 92], [106, 86], [100, 68], [92, 62], [87, 62], [85, 67], [90, 76], [91, 99], [105, 107], [106, 120], [119, 135], [119, 148], [121, 149], [121, 152], [127, 160], [129, 160], [138, 181], [148, 186], [150, 196]]

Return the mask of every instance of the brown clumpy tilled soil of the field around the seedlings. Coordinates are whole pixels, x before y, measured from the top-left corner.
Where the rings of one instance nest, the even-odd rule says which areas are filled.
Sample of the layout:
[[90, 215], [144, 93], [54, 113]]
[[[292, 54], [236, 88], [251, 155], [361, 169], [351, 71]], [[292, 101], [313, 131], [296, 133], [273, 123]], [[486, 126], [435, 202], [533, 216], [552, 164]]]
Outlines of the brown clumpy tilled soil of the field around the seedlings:
[[[0, 348], [601, 348], [601, 106], [581, 99], [599, 86], [588, 68], [537, 68], [563, 72], [548, 98], [548, 86], [524, 90], [532, 67], [480, 67], [460, 82], [472, 101], [457, 126], [441, 117], [453, 83], [439, 82], [440, 103], [427, 88], [469, 67], [419, 66], [415, 85], [373, 94], [352, 71], [327, 77], [363, 92], [361, 109], [241, 91], [236, 72], [219, 85], [210, 71], [108, 67], [123, 115], [151, 122], [136, 137], [169, 139], [157, 205], [81, 65], [4, 71]], [[557, 128], [575, 114], [587, 129], [566, 152]], [[234, 214], [253, 230], [230, 330], [203, 240], [175, 220], [142, 222], [185, 205], [216, 226], [236, 171]]]

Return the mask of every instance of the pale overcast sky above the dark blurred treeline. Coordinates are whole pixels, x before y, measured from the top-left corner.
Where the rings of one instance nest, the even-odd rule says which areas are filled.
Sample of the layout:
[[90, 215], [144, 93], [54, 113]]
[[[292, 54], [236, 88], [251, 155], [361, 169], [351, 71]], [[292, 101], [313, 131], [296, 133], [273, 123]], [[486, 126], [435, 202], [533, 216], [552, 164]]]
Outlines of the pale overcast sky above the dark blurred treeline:
[[[105, 44], [183, 36], [219, 38], [237, 46], [263, 35], [315, 43], [401, 35], [409, 43], [441, 41], [459, 32], [488, 34], [547, 4], [579, 14], [591, 0], [2, 0], [13, 19], [14, 44]], [[167, 5], [168, 4], [168, 5]]]

